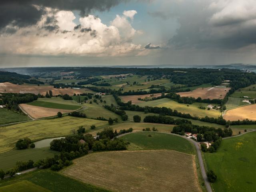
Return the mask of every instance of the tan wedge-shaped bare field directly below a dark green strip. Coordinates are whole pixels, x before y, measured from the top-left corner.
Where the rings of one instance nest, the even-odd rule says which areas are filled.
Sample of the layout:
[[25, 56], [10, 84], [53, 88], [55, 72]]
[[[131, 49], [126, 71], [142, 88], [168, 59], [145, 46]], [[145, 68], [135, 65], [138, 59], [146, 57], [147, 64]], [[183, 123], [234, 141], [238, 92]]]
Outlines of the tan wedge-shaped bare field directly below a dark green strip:
[[46, 107], [38, 107], [38, 106], [27, 105], [27, 104], [20, 104], [20, 106], [24, 111], [26, 111], [26, 113], [28, 113], [34, 119], [56, 116], [58, 112], [69, 113], [73, 111], [73, 110], [65, 110], [65, 109], [52, 109], [52, 108], [46, 108]]

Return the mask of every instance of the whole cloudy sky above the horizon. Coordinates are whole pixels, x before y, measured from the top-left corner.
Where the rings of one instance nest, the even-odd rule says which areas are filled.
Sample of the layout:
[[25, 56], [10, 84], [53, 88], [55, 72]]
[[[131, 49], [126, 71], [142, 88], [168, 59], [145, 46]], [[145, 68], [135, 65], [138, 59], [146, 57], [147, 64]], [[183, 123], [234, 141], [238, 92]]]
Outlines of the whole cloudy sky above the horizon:
[[1, 0], [0, 67], [256, 64], [256, 0]]

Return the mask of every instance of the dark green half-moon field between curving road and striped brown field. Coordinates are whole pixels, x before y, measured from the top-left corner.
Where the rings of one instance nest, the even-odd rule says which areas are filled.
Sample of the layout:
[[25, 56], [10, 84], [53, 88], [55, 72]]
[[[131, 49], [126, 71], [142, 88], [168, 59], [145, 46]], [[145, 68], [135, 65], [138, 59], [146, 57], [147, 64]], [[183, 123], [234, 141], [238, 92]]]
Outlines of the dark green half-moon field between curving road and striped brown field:
[[[148, 135], [152, 137], [149, 137]], [[169, 149], [179, 152], [196, 154], [195, 148], [191, 142], [185, 138], [164, 134], [158, 132], [138, 132], [127, 134], [121, 137], [130, 142], [128, 150], [158, 150]]]

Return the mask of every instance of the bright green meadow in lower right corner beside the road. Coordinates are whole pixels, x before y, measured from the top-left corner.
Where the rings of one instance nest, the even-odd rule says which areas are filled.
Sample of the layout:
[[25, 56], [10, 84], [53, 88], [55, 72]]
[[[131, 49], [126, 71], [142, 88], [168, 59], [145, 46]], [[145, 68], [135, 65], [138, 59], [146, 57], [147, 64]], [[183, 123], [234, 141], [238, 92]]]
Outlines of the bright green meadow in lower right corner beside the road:
[[217, 175], [214, 191], [256, 191], [255, 146], [256, 132], [251, 132], [223, 140], [217, 152], [204, 154], [208, 169]]

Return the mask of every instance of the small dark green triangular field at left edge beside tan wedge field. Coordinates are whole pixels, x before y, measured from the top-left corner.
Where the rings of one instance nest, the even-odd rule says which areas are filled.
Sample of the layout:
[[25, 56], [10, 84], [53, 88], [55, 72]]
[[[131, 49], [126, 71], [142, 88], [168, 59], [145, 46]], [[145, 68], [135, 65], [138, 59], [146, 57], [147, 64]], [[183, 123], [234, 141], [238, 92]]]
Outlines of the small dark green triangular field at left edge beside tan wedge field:
[[26, 115], [18, 114], [7, 109], [0, 109], [0, 117], [0, 125], [30, 120]]

